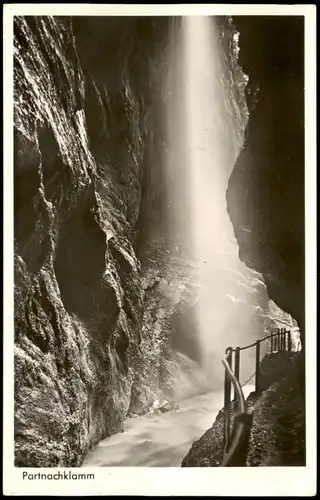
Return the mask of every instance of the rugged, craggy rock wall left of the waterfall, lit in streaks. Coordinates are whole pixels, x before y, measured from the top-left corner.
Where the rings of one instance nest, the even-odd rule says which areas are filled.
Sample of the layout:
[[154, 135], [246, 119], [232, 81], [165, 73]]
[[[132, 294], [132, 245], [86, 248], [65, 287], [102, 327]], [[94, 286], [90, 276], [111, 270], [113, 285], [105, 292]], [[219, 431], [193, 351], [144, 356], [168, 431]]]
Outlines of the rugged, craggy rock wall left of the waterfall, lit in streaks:
[[79, 466], [129, 409], [155, 24], [15, 19], [17, 466]]

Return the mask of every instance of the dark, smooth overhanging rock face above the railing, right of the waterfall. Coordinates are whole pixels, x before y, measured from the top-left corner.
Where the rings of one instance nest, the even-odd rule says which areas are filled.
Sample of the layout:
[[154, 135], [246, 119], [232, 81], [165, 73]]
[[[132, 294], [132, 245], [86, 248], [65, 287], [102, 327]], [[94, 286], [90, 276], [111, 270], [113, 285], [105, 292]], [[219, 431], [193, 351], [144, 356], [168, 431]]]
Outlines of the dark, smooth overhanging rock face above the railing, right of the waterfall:
[[[235, 17], [251, 106], [228, 207], [247, 266], [304, 332], [304, 19]], [[241, 207], [241, 209], [239, 209]]]

